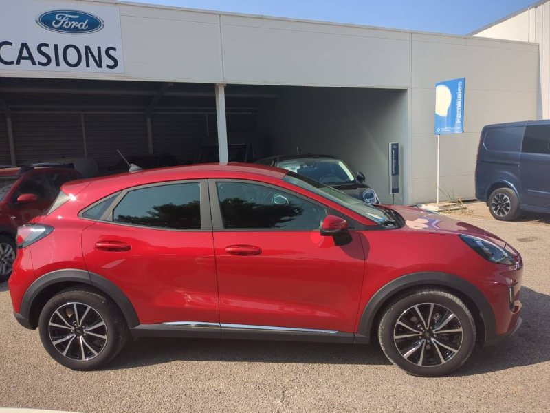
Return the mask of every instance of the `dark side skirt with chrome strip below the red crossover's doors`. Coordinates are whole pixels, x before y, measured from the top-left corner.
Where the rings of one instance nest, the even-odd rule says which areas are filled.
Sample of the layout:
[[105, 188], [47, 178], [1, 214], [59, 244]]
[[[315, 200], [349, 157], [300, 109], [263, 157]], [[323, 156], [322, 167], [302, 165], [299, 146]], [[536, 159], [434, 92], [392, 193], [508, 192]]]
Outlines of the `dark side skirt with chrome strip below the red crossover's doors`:
[[355, 334], [334, 330], [292, 328], [278, 326], [251, 326], [202, 321], [172, 321], [159, 324], [140, 324], [130, 328], [133, 337], [198, 337], [212, 339], [245, 339], [274, 341], [318, 341], [325, 343], [353, 343]]

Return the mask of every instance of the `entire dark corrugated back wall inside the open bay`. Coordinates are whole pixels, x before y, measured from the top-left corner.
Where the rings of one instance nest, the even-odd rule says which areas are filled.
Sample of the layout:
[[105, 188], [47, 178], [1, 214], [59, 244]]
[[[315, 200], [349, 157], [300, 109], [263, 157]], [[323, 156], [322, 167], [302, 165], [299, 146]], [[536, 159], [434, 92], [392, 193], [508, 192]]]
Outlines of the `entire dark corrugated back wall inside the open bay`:
[[[83, 125], [80, 113], [12, 113], [17, 165], [84, 156]], [[253, 132], [254, 114], [227, 115], [231, 134]], [[84, 114], [87, 156], [96, 159], [100, 172], [120, 161], [116, 149], [124, 155], [148, 153], [145, 114]], [[171, 153], [181, 164], [195, 160], [201, 145], [217, 143], [215, 114], [162, 114], [151, 116], [153, 152]], [[239, 142], [242, 139], [238, 139]], [[10, 163], [8, 130], [0, 116], [0, 164]]]

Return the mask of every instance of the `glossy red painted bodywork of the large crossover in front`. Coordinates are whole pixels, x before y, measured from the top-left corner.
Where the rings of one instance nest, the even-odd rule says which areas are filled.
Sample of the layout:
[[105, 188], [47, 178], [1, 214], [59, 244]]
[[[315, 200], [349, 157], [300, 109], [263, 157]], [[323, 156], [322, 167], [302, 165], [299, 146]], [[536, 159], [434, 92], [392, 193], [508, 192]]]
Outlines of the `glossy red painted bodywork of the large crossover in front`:
[[[497, 334], [516, 326], [522, 262], [500, 238], [411, 207], [386, 206], [401, 215], [405, 225], [381, 229], [340, 204], [283, 181], [286, 173], [259, 165], [193, 165], [65, 184], [63, 191], [73, 198], [36, 219], [54, 226], [53, 233], [20, 250], [10, 279], [14, 311], [21, 310], [21, 299], [36, 277], [78, 268], [118, 286], [141, 324], [203, 321], [357, 333], [364, 308], [381, 288], [399, 277], [432, 271], [464, 279], [481, 291], [492, 307]], [[168, 231], [78, 218], [85, 207], [129, 187], [209, 178], [273, 184], [325, 204], [364, 228], [352, 229], [351, 242], [340, 246], [319, 230]], [[489, 262], [459, 234], [499, 244], [519, 262]], [[131, 248], [100, 251], [98, 242], [123, 242]], [[234, 255], [227, 252], [229, 246], [257, 247], [261, 254]]]

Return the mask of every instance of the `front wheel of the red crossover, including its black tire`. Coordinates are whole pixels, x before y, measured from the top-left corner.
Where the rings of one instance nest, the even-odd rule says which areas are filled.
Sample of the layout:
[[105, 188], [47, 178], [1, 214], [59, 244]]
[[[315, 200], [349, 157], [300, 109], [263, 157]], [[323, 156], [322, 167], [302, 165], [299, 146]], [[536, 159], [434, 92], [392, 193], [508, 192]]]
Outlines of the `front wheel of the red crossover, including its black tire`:
[[[431, 313], [432, 318], [427, 323], [428, 328], [426, 329], [424, 328], [426, 327], [425, 321], [430, 315], [431, 304], [434, 304], [434, 310], [432, 311], [435, 315]], [[409, 319], [406, 316], [408, 314], [412, 315], [413, 311], [416, 311], [412, 310], [411, 313], [408, 313], [414, 306], [418, 306], [417, 308], [419, 308], [421, 315], [425, 318], [423, 321], [423, 330], [417, 328], [421, 332], [418, 336], [409, 331], [408, 328], [397, 324], [397, 321], [405, 321], [409, 326], [412, 325], [409, 324]], [[443, 309], [452, 312], [456, 318], [452, 318], [447, 324], [444, 324], [443, 321], [447, 317], [450, 317], [451, 314], [443, 313]], [[438, 317], [441, 314], [445, 315], [442, 315], [440, 319]], [[417, 320], [418, 325], [421, 326], [419, 317], [417, 317]], [[429, 328], [429, 324], [432, 323], [434, 324], [432, 326], [433, 330]], [[416, 328], [417, 326], [413, 327]], [[445, 331], [458, 328], [461, 328], [462, 332], [444, 334]], [[439, 329], [443, 334], [436, 333], [436, 329]], [[406, 332], [414, 335], [414, 337], [394, 339], [396, 334], [399, 337], [406, 334]], [[426, 339], [426, 335], [429, 334], [431, 334], [431, 338]], [[476, 325], [470, 310], [458, 297], [441, 290], [425, 288], [404, 293], [388, 304], [378, 327], [378, 339], [380, 340], [380, 346], [382, 346], [384, 354], [395, 366], [414, 376], [439, 377], [450, 374], [450, 372], [462, 366], [468, 357], [470, 357], [476, 343]], [[452, 341], [453, 339], [456, 341]], [[459, 341], [460, 343], [457, 345], [456, 343]], [[436, 345], [435, 343], [439, 344]], [[404, 356], [404, 354], [407, 354], [406, 350], [412, 350], [419, 344], [420, 347], [418, 350], [410, 353], [407, 359]], [[398, 346], [401, 346], [401, 351]], [[447, 348], [454, 347], [456, 350], [454, 352], [446, 350], [444, 346], [447, 346]], [[443, 357], [441, 354], [443, 354]], [[441, 363], [446, 357], [448, 359]], [[420, 360], [422, 361], [420, 362]]]

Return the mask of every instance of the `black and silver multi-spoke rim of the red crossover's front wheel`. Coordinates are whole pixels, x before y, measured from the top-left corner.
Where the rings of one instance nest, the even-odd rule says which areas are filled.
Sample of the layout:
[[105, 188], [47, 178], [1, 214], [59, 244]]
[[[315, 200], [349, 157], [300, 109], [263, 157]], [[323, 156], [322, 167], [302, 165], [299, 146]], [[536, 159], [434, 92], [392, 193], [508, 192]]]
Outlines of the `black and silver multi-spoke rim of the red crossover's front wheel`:
[[405, 310], [393, 330], [395, 346], [417, 366], [445, 364], [460, 350], [463, 330], [459, 318], [441, 304], [417, 304]]

